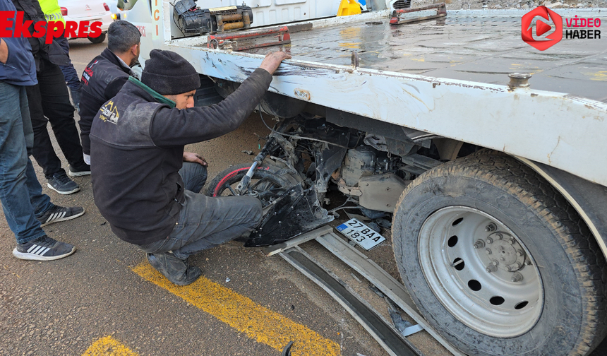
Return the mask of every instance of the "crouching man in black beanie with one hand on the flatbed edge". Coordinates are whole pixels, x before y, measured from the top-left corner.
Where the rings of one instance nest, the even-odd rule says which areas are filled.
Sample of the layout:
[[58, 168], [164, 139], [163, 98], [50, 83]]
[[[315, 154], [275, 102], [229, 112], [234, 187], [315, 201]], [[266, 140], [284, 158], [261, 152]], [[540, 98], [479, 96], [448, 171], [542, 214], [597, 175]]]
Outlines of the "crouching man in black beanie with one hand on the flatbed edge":
[[[152, 49], [141, 82], [129, 79], [105, 103], [90, 131], [95, 204], [112, 231], [148, 253], [150, 264], [176, 285], [200, 276], [188, 256], [250, 232], [262, 207], [252, 196], [196, 194], [184, 145], [237, 129], [253, 112], [285, 52], [268, 54], [225, 100], [193, 107], [200, 76], [183, 57]], [[185, 177], [184, 177], [185, 176]]]

